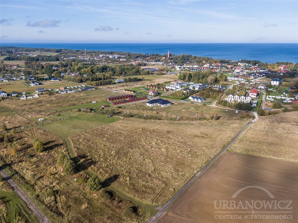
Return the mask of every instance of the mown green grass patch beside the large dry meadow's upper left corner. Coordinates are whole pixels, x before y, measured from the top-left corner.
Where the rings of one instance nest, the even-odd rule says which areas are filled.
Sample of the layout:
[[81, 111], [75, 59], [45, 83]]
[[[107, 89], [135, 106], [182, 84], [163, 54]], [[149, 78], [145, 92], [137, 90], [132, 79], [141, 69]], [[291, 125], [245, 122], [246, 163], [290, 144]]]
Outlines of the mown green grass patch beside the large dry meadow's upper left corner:
[[119, 117], [106, 118], [105, 115], [83, 113], [83, 112], [63, 112], [60, 116], [50, 118], [67, 118], [60, 121], [52, 121], [38, 125], [38, 127], [58, 134], [63, 138], [70, 137], [80, 132], [90, 130], [105, 124], [120, 120]]

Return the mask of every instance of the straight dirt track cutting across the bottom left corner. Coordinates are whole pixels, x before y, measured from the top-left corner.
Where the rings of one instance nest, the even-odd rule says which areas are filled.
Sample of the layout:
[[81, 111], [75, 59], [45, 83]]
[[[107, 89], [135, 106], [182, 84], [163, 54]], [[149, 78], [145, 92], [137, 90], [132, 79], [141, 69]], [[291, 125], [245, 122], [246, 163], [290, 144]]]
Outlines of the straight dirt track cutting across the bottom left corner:
[[27, 197], [25, 192], [9, 177], [2, 169], [0, 169], [0, 174], [6, 180], [10, 186], [13, 188], [16, 194], [27, 204], [33, 213], [36, 215], [37, 219], [41, 223], [51, 223], [49, 219], [38, 209], [38, 207]]

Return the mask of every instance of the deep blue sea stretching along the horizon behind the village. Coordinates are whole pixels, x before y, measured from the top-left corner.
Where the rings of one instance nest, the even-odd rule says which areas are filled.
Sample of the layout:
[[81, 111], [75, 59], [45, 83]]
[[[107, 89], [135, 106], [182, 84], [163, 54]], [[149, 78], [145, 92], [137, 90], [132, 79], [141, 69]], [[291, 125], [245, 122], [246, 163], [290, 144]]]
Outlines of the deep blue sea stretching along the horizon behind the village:
[[53, 49], [85, 49], [142, 54], [190, 54], [226, 60], [260, 60], [264, 63], [298, 63], [298, 43], [0, 43]]

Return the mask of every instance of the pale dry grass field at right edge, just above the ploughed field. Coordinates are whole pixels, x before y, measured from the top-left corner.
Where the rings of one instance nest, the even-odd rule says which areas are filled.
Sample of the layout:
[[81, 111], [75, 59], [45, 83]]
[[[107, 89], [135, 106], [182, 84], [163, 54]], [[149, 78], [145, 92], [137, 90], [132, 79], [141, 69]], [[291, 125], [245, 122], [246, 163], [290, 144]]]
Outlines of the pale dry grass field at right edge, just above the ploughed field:
[[298, 111], [261, 116], [231, 150], [297, 162], [297, 117]]

